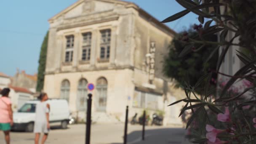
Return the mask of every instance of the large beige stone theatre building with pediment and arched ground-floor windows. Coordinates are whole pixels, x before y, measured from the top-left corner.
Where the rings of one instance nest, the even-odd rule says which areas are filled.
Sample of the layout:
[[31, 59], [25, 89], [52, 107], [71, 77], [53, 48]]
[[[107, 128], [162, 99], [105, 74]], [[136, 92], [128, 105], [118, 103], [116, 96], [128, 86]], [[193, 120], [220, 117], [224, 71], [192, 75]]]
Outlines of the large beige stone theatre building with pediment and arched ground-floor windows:
[[94, 121], [124, 121], [128, 105], [129, 117], [162, 111], [165, 124], [181, 125], [179, 105], [166, 106], [184, 93], [162, 74], [172, 29], [121, 0], [78, 0], [48, 22], [48, 96], [67, 99], [72, 114], [84, 119], [93, 83]]

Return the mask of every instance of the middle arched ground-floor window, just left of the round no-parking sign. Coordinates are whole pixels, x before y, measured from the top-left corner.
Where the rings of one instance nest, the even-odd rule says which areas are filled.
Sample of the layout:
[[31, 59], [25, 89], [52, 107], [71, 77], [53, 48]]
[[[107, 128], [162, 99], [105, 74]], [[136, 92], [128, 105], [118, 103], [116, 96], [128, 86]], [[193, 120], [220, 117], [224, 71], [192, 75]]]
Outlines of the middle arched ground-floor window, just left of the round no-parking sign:
[[85, 111], [87, 107], [87, 80], [81, 79], [77, 87], [77, 110]]

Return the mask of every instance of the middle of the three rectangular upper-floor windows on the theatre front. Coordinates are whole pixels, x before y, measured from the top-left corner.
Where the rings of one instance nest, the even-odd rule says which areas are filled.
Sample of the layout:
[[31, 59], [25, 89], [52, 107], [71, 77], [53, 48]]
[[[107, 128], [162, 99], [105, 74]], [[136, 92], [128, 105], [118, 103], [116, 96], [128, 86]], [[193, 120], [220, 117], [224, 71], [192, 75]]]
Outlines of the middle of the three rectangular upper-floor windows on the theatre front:
[[83, 34], [82, 61], [89, 61], [91, 58], [91, 32]]

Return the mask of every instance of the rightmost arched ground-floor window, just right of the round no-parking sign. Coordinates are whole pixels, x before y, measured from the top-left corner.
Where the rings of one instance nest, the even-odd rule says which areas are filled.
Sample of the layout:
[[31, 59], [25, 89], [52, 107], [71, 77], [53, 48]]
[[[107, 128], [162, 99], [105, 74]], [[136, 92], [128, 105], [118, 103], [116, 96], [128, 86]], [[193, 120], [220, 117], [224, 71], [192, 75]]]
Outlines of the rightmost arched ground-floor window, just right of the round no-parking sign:
[[106, 111], [107, 106], [107, 79], [104, 77], [100, 77], [97, 80], [97, 86], [96, 86], [96, 92], [97, 92], [97, 110], [98, 111]]

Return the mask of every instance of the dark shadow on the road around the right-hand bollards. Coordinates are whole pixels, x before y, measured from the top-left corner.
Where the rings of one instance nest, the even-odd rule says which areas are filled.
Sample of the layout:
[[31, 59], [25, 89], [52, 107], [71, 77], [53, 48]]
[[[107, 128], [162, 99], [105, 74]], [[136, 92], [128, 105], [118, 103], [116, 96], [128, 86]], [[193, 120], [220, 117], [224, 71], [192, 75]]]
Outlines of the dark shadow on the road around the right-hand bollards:
[[132, 131], [127, 135], [127, 144], [180, 144], [183, 138], [183, 128], [159, 128], [145, 130], [145, 141], [142, 141], [142, 130]]

